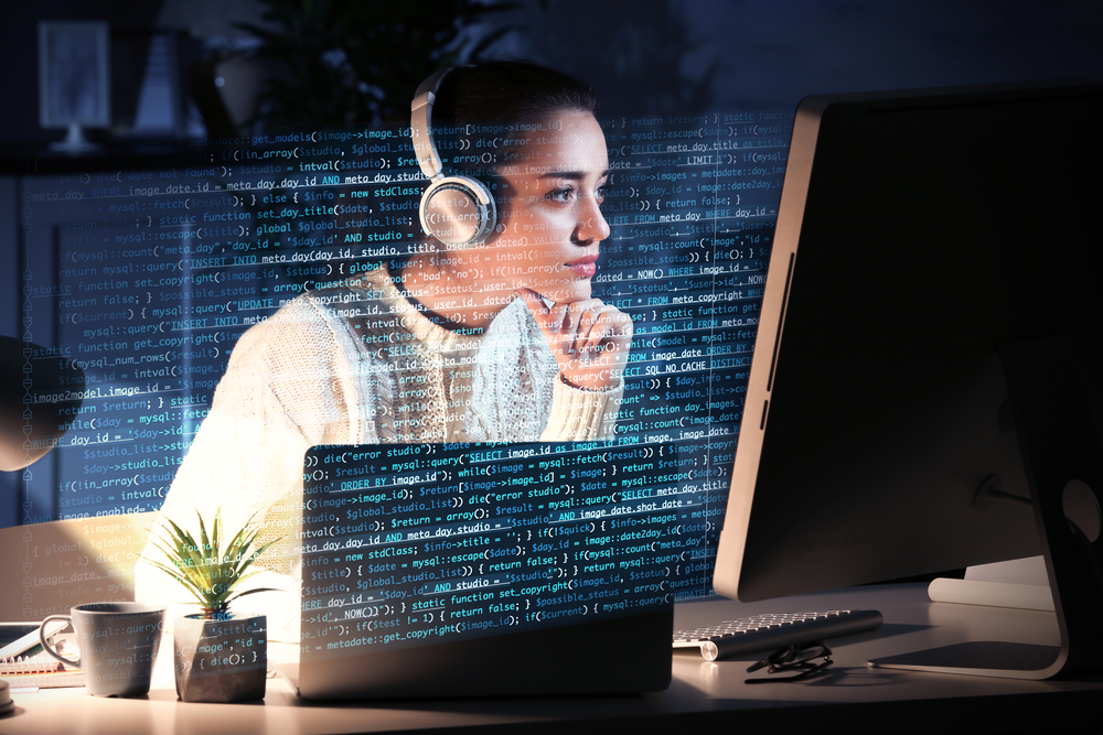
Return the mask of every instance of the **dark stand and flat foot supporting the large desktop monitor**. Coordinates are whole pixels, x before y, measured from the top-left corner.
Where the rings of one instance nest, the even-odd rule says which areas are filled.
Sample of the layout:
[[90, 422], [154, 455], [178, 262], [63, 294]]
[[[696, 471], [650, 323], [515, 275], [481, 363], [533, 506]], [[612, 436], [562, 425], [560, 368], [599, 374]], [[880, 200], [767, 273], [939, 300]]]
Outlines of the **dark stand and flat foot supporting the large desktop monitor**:
[[[1068, 520], [1065, 510], [1067, 505], [1093, 507], [1097, 525], [1103, 493], [1099, 431], [1079, 390], [1065, 343], [1007, 343], [998, 353], [1045, 548], [1061, 645], [970, 641], [875, 659], [870, 667], [1040, 680], [1103, 666], [1100, 544], [1089, 541]], [[990, 489], [987, 494], [999, 497]]]

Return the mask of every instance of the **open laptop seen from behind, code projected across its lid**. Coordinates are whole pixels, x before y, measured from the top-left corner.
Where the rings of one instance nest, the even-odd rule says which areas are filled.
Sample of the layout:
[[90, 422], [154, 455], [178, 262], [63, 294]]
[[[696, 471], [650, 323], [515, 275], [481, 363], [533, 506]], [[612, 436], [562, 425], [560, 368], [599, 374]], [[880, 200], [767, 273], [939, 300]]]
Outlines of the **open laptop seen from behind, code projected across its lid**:
[[675, 444], [320, 445], [304, 457], [311, 700], [614, 694], [671, 681]]

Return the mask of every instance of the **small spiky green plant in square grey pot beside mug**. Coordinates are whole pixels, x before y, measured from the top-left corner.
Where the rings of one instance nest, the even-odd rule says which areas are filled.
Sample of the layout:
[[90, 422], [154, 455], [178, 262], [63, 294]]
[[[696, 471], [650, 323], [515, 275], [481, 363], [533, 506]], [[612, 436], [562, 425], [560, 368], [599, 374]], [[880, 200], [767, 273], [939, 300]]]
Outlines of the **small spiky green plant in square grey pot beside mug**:
[[[164, 564], [146, 561], [180, 582], [203, 612], [176, 618], [173, 624], [173, 659], [176, 695], [184, 702], [247, 702], [264, 699], [268, 661], [267, 616], [238, 618], [232, 602], [270, 587], [239, 592], [243, 582], [257, 574], [246, 570], [276, 541], [250, 551], [259, 529], [253, 518], [224, 545], [222, 510], [215, 512], [207, 534], [203, 516], [200, 538], [194, 539], [170, 519], [153, 544], [168, 558]], [[255, 516], [254, 516], [255, 518]], [[278, 540], [278, 539], [277, 539]]]

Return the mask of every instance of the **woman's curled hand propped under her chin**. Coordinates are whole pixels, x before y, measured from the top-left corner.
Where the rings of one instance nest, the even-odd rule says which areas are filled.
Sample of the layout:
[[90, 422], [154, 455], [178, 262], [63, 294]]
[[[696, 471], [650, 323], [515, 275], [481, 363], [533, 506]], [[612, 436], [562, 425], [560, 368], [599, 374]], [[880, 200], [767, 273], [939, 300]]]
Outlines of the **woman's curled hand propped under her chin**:
[[600, 299], [548, 307], [535, 291], [517, 289], [517, 294], [536, 318], [569, 385], [608, 390], [620, 382], [632, 347], [632, 317]]

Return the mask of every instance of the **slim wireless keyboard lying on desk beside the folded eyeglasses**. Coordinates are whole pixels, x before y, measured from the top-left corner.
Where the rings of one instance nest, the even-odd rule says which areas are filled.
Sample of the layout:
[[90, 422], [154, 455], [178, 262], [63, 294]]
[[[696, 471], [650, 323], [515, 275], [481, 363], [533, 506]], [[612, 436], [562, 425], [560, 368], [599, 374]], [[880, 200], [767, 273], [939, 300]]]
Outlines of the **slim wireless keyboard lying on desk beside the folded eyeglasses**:
[[741, 653], [772, 651], [785, 646], [824, 640], [879, 628], [885, 618], [877, 610], [823, 610], [773, 613], [725, 620], [693, 630], [675, 630], [674, 648], [699, 647], [709, 660]]

